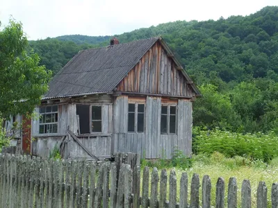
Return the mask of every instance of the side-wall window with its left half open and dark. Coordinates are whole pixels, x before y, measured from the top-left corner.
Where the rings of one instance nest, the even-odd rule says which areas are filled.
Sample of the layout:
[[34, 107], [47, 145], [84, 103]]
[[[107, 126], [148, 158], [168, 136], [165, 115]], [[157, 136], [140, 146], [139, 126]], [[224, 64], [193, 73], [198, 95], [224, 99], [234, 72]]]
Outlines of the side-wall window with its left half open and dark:
[[76, 105], [76, 114], [79, 115], [79, 133], [90, 134], [102, 132], [102, 112], [99, 105]]

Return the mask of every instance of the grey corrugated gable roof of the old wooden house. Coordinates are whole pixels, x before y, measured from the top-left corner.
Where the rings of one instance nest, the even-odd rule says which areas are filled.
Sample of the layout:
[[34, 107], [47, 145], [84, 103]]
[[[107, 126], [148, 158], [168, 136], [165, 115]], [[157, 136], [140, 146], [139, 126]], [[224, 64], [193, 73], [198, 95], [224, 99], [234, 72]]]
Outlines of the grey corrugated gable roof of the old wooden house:
[[[80, 51], [54, 76], [42, 99], [112, 92], [158, 40], [167, 53], [171, 53], [161, 37]], [[181, 67], [175, 58], [173, 60]], [[186, 71], [182, 71], [186, 80], [190, 80]], [[193, 90], [199, 94], [194, 84]]]

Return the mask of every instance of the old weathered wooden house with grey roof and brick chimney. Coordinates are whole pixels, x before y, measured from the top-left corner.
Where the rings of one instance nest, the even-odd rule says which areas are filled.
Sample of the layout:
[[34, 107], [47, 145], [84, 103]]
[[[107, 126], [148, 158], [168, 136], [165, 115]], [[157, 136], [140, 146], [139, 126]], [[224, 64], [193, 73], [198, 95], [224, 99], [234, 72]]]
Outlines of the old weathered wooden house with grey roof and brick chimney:
[[54, 146], [67, 158], [132, 152], [169, 159], [175, 149], [190, 155], [196, 96], [161, 37], [124, 44], [114, 38], [80, 51], [51, 80], [23, 148], [42, 157]]

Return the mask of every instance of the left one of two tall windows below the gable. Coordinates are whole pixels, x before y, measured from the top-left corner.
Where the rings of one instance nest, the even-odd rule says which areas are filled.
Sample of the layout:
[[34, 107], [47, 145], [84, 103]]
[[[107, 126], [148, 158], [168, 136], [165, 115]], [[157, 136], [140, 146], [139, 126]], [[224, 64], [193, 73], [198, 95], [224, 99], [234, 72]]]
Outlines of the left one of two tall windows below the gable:
[[129, 103], [128, 132], [144, 132], [145, 104]]

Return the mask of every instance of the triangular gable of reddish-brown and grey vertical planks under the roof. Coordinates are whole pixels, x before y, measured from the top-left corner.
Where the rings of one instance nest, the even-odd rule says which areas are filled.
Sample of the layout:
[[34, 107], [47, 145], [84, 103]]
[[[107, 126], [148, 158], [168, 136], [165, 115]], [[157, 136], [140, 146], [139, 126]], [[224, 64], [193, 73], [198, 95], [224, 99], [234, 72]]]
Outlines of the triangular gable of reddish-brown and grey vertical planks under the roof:
[[193, 96], [193, 89], [165, 49], [156, 42], [124, 77], [117, 91], [169, 96]]

